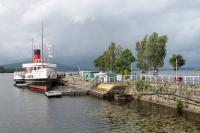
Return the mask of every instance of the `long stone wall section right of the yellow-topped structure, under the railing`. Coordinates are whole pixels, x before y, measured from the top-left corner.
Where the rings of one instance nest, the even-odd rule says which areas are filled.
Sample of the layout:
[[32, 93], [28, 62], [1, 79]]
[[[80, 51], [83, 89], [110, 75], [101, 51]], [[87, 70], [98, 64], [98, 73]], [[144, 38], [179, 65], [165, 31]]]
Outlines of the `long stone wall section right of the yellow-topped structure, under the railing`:
[[138, 100], [200, 114], [200, 85], [136, 81], [128, 92]]

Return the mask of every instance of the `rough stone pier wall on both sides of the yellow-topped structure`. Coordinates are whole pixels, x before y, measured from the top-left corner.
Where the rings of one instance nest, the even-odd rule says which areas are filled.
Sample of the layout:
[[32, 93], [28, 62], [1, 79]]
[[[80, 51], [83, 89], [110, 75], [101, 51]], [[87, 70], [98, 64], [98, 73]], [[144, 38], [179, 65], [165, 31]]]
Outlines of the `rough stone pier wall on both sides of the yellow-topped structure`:
[[[64, 78], [63, 81], [65, 86], [89, 89], [90, 91], [98, 86], [97, 83], [74, 80], [69, 77]], [[121, 82], [121, 84], [126, 85], [126, 94], [131, 95], [136, 100], [171, 108], [181, 108], [184, 111], [200, 114], [200, 85], [198, 84], [147, 82], [143, 80], [132, 80]]]

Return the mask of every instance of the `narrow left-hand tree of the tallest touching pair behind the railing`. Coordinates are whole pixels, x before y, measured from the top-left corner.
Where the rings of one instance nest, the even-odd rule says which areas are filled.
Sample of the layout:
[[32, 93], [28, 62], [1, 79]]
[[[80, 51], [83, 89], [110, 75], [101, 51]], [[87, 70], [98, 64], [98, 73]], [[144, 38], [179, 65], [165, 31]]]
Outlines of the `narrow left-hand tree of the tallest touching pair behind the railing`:
[[148, 62], [146, 55], [147, 35], [142, 41], [136, 42], [137, 51], [137, 67], [143, 72], [148, 70]]

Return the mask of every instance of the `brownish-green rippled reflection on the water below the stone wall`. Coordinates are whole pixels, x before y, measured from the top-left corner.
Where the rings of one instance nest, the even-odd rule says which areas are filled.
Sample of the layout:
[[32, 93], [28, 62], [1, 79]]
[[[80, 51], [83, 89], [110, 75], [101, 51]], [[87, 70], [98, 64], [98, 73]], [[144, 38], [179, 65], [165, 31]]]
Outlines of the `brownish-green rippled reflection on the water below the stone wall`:
[[198, 115], [189, 114], [198, 118], [196, 121], [192, 118], [187, 120], [184, 116], [178, 116], [174, 109], [138, 101], [126, 104], [105, 101], [100, 103], [98, 109], [91, 112], [91, 116], [107, 125], [112, 133], [200, 132]]

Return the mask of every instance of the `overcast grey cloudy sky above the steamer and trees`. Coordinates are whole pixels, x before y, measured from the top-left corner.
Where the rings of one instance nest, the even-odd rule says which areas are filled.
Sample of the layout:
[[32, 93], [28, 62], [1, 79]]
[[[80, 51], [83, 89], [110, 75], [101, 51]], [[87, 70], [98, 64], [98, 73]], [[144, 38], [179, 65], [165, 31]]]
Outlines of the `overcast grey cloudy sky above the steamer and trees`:
[[31, 58], [42, 21], [64, 64], [90, 61], [111, 41], [135, 54], [135, 42], [155, 31], [169, 37], [166, 62], [181, 53], [200, 66], [200, 0], [0, 0], [0, 64]]

